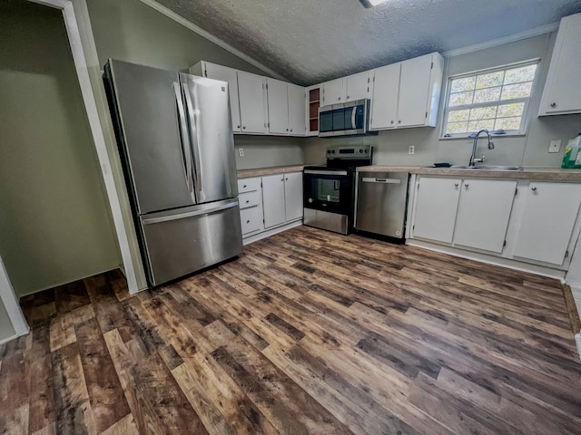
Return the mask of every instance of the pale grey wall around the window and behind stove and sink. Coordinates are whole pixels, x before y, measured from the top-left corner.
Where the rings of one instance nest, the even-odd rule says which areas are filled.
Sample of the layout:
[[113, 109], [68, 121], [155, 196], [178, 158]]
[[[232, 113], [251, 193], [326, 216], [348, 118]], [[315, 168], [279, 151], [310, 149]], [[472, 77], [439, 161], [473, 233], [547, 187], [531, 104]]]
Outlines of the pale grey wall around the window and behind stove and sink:
[[[487, 164], [522, 165], [535, 167], [560, 167], [566, 140], [581, 131], [581, 115], [562, 115], [537, 118], [541, 93], [547, 79], [548, 64], [555, 44], [556, 34], [542, 34], [521, 41], [506, 43], [478, 52], [466, 53], [446, 60], [445, 75], [470, 73], [508, 63], [541, 58], [536, 88], [528, 111], [527, 135], [524, 137], [499, 137], [495, 139], [495, 150], [482, 149], [487, 156]], [[444, 91], [446, 78], [444, 79]], [[378, 136], [363, 138], [343, 138], [325, 140], [310, 138], [304, 145], [305, 161], [320, 163], [324, 161], [324, 150], [328, 143], [369, 144], [374, 147], [374, 163], [379, 165], [427, 166], [437, 161], [453, 164], [468, 164], [472, 150], [472, 140], [439, 139], [443, 117], [442, 94], [438, 114], [438, 127], [380, 131]], [[548, 144], [552, 139], [563, 141], [561, 152], [549, 154]], [[409, 145], [416, 147], [414, 155], [408, 154]]]

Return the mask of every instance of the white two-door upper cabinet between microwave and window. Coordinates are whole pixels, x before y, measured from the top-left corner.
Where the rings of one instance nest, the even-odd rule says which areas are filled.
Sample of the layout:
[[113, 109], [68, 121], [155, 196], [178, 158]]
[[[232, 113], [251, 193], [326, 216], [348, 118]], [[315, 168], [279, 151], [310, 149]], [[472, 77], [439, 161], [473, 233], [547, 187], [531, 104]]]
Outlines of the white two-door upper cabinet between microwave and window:
[[435, 127], [443, 65], [442, 56], [431, 53], [374, 70], [371, 130]]

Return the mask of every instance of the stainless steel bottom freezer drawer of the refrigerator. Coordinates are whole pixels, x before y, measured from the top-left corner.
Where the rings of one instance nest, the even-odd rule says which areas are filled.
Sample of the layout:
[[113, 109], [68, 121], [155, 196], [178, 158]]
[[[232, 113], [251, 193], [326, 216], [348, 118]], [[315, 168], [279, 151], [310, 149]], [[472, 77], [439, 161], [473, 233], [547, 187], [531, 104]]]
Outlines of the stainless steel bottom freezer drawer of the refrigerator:
[[237, 199], [142, 217], [151, 285], [191, 274], [242, 252]]

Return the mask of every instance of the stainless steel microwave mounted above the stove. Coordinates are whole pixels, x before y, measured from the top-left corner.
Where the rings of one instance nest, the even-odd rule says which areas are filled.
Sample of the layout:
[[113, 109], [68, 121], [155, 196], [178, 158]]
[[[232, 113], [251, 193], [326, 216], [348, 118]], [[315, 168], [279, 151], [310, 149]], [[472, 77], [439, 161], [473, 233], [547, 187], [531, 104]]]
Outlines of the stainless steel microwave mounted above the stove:
[[341, 102], [319, 108], [319, 136], [377, 134], [369, 131], [369, 100]]

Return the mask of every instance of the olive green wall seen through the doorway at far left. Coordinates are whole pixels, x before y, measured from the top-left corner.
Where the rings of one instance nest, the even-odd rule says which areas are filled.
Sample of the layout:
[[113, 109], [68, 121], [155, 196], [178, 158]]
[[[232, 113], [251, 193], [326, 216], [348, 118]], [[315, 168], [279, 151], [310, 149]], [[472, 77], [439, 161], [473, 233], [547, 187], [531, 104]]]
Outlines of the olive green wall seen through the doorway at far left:
[[62, 14], [0, 3], [0, 256], [17, 295], [121, 264]]

